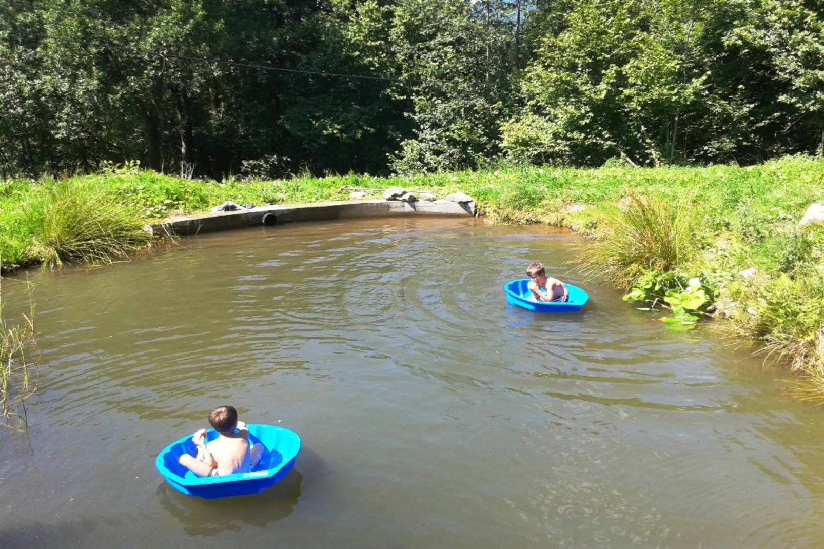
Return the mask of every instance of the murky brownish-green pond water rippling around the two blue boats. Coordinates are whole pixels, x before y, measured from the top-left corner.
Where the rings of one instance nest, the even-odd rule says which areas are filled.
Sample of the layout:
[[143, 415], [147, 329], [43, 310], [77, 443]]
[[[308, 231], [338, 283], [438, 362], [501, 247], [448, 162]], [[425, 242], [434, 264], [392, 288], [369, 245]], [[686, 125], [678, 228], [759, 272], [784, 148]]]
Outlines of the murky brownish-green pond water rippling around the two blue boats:
[[[596, 284], [583, 314], [506, 306], [573, 239], [299, 224], [34, 275], [0, 547], [820, 547], [822, 411], [780, 373]], [[294, 472], [241, 500], [168, 489], [157, 451], [223, 403], [301, 434]]]

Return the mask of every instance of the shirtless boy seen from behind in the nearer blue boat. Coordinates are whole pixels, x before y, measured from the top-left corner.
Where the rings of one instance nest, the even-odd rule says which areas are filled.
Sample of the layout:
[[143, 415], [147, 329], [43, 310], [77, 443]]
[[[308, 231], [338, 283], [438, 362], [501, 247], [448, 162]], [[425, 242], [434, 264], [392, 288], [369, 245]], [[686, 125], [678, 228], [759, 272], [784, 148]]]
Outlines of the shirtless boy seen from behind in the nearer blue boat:
[[[218, 431], [218, 438], [206, 443], [206, 429], [192, 435], [198, 448], [194, 458], [188, 453], [180, 456], [180, 465], [197, 476], [232, 475], [250, 472], [260, 461], [263, 444], [249, 443], [249, 429], [237, 420], [233, 406], [218, 406], [208, 415], [209, 425]], [[237, 430], [237, 432], [235, 432]]]

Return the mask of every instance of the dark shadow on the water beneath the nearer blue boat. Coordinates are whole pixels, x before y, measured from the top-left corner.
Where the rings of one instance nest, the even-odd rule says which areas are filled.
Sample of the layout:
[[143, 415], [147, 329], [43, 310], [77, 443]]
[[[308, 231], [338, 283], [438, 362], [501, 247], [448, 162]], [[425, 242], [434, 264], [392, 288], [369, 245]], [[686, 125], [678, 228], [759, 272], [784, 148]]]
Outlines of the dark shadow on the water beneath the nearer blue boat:
[[292, 514], [301, 495], [303, 475], [292, 471], [277, 485], [257, 495], [201, 500], [180, 494], [166, 482], [157, 487], [163, 509], [183, 525], [190, 536], [210, 537], [244, 525], [262, 528]]

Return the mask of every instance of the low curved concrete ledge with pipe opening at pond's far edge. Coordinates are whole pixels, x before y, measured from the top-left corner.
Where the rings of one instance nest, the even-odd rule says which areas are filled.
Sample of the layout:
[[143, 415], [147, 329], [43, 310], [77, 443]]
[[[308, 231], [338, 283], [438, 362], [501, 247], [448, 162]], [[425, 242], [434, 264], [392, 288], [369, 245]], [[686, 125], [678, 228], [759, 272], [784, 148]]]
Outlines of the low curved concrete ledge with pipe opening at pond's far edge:
[[344, 218], [379, 218], [400, 215], [474, 216], [475, 202], [458, 204], [449, 200], [414, 203], [397, 200], [341, 200], [317, 204], [279, 204], [241, 209], [235, 212], [210, 212], [170, 218], [152, 225], [154, 234], [192, 235], [200, 232], [230, 231], [260, 225], [279, 225], [296, 221], [328, 221]]

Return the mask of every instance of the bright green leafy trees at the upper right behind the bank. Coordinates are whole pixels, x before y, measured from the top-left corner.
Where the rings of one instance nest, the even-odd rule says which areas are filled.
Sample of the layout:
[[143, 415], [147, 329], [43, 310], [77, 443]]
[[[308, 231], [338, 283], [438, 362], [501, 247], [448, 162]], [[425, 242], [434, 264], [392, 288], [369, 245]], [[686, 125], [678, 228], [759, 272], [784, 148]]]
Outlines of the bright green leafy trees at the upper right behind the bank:
[[817, 146], [822, 21], [803, 2], [574, 0], [544, 21], [527, 110], [503, 124], [518, 161], [743, 162]]

